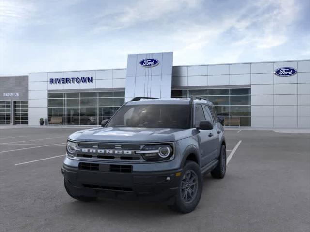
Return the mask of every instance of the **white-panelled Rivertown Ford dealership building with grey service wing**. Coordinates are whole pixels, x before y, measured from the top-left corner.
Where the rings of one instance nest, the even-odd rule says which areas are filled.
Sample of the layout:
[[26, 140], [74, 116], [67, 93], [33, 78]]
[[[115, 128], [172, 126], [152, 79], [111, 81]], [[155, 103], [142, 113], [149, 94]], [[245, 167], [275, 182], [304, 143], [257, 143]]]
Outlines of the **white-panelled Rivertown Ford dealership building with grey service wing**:
[[136, 96], [201, 96], [241, 127], [310, 128], [310, 60], [172, 63], [172, 52], [133, 54], [126, 69], [2, 76], [0, 124], [99, 125]]

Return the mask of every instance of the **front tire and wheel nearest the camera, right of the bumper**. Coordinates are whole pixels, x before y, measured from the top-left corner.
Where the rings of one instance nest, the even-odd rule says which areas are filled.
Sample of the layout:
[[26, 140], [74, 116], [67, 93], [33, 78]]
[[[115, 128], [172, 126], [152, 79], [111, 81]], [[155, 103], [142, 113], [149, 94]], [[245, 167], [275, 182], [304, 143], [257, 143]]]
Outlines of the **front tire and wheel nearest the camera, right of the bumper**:
[[[192, 185], [190, 185], [190, 182], [192, 182]], [[202, 172], [199, 165], [193, 161], [186, 161], [179, 179], [175, 202], [169, 207], [183, 214], [193, 211], [202, 196], [202, 185]]]

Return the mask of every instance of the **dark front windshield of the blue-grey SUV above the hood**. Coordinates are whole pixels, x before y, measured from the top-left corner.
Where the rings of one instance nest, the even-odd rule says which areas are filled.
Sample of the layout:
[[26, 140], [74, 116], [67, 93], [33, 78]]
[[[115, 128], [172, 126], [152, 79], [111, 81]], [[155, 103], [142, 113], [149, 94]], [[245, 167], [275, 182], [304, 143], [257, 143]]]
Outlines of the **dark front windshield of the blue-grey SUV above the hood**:
[[189, 105], [125, 105], [107, 127], [189, 128]]

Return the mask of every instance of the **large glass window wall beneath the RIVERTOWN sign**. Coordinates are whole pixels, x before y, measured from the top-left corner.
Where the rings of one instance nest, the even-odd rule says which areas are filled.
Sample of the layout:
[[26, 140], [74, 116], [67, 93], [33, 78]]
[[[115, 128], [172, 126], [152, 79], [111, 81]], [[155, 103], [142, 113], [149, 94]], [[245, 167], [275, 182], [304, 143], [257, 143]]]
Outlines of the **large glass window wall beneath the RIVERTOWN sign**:
[[124, 104], [124, 91], [48, 93], [48, 124], [99, 125]]

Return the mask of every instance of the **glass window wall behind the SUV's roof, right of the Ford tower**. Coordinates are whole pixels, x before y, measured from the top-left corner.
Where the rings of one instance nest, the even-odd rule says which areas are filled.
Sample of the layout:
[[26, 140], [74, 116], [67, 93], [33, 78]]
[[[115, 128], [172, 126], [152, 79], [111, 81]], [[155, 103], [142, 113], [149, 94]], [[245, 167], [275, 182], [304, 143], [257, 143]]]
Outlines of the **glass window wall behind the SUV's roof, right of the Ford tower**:
[[238, 117], [240, 126], [251, 126], [251, 89], [180, 89], [172, 90], [172, 98], [199, 96], [209, 99], [217, 109], [217, 116]]

